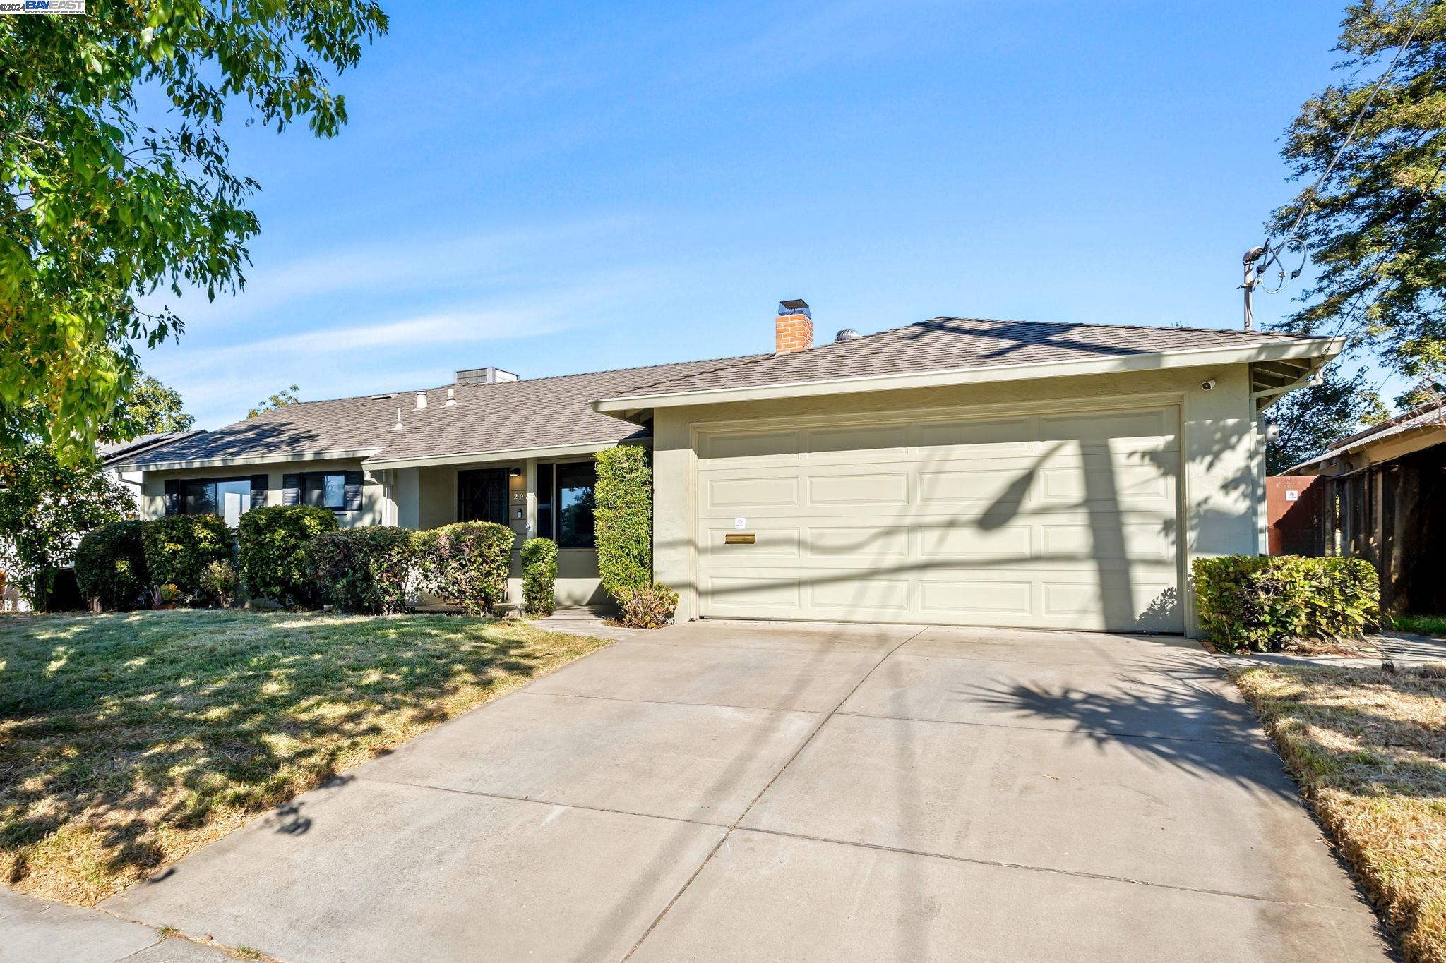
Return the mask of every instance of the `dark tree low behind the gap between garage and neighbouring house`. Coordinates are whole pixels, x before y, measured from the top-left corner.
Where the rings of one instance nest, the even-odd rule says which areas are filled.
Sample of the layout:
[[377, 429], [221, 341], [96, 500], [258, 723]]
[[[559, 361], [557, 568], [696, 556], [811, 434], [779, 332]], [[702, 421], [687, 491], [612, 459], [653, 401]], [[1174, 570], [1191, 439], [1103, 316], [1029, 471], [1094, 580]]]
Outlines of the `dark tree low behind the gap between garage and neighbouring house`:
[[1346, 378], [1338, 365], [1320, 372], [1320, 384], [1291, 391], [1270, 409], [1277, 436], [1265, 445], [1265, 472], [1325, 455], [1330, 443], [1387, 416], [1381, 396], [1366, 385], [1365, 371]]

